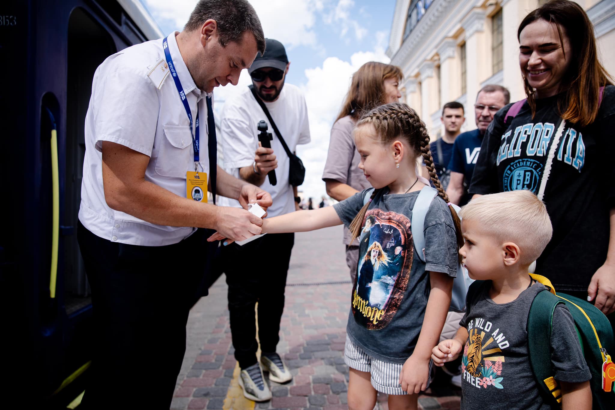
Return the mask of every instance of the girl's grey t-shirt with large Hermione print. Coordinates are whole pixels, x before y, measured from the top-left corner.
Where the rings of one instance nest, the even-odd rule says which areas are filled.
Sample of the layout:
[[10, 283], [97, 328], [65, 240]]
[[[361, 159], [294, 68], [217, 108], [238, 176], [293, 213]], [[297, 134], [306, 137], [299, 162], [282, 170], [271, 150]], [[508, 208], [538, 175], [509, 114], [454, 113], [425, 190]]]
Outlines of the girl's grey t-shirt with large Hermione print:
[[[457, 274], [457, 242], [446, 203], [435, 197], [425, 217], [426, 264], [416, 254], [410, 221], [418, 191], [384, 194], [370, 203], [359, 237], [359, 264], [352, 289], [347, 334], [368, 355], [403, 363], [423, 326], [428, 271]], [[365, 192], [333, 205], [344, 225], [363, 207]]]

